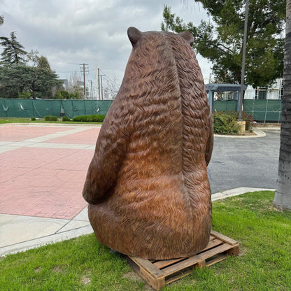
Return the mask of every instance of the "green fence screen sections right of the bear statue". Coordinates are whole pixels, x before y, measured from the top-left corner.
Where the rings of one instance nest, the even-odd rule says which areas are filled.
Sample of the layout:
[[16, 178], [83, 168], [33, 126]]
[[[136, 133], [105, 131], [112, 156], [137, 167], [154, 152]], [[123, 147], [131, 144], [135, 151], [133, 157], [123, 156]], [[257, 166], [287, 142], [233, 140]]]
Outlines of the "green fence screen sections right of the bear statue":
[[[216, 111], [237, 111], [236, 100], [215, 100]], [[243, 112], [258, 122], [281, 122], [281, 100], [244, 99]]]

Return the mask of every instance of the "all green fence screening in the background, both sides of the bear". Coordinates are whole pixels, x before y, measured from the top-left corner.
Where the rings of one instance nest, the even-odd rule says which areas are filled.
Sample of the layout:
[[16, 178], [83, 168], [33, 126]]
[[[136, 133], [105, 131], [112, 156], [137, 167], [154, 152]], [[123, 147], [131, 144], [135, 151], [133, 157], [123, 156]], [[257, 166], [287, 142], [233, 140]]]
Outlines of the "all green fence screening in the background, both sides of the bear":
[[[0, 118], [44, 118], [45, 115], [69, 118], [78, 115], [106, 115], [113, 100], [0, 99]], [[236, 111], [236, 100], [214, 101], [216, 111]], [[281, 100], [245, 99], [243, 111], [260, 122], [280, 122]]]

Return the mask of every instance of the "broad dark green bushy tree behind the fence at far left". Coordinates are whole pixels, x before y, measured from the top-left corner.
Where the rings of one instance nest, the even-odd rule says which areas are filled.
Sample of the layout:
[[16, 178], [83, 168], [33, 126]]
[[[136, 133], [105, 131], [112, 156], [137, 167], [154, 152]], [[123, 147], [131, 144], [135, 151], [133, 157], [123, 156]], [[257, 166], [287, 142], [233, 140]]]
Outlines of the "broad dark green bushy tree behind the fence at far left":
[[62, 86], [55, 72], [33, 66], [0, 66], [0, 80], [2, 98], [17, 98], [23, 92], [33, 98], [52, 98]]

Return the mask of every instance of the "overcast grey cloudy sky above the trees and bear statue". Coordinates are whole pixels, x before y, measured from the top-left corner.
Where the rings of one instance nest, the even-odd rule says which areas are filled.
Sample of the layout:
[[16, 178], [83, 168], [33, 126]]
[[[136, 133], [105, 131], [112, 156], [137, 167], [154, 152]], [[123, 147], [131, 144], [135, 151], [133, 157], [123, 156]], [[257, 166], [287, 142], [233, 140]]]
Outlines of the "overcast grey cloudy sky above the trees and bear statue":
[[[59, 78], [80, 74], [80, 64], [86, 63], [86, 81], [97, 83], [98, 66], [105, 82], [108, 77], [120, 85], [132, 50], [127, 28], [161, 30], [164, 4], [186, 23], [208, 19], [201, 4], [191, 0], [0, 0], [0, 36], [16, 31], [24, 49], [45, 55]], [[197, 58], [208, 83], [211, 64]]]

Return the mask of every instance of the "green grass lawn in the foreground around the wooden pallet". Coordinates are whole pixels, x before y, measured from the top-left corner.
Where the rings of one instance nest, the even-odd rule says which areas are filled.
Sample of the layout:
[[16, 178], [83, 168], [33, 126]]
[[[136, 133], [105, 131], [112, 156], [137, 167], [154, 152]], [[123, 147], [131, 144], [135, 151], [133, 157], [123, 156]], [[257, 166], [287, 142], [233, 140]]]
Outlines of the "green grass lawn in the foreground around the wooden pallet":
[[[239, 241], [237, 257], [195, 269], [163, 290], [291, 290], [291, 211], [274, 192], [213, 203], [213, 229]], [[0, 290], [151, 290], [94, 234], [0, 259]]]

